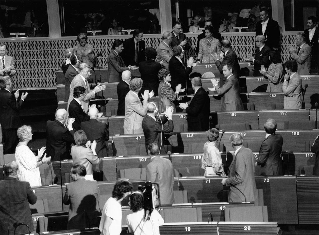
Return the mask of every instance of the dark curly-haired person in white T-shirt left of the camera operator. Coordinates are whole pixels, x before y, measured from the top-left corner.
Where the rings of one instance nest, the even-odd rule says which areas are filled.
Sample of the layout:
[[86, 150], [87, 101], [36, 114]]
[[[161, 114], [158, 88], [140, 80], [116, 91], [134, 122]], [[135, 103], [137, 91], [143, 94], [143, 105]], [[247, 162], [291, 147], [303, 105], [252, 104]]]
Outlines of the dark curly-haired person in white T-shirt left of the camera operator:
[[99, 230], [101, 235], [120, 235], [122, 231], [122, 200], [131, 194], [133, 186], [127, 180], [115, 183], [110, 197], [104, 204]]

